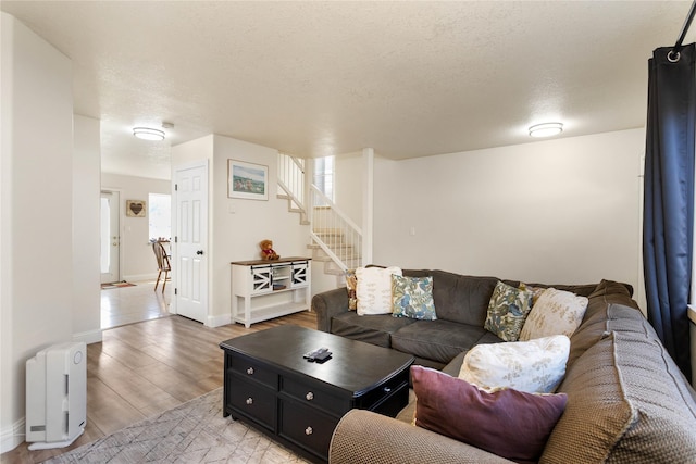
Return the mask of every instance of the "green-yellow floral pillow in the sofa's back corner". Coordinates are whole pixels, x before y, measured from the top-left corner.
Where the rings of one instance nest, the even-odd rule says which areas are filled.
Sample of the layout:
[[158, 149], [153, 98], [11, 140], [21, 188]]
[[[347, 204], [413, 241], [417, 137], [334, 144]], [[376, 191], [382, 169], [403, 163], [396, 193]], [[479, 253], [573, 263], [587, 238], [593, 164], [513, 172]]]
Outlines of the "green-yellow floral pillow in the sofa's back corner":
[[514, 288], [498, 281], [488, 302], [484, 328], [505, 341], [518, 341], [532, 309], [533, 296], [534, 292], [523, 286]]

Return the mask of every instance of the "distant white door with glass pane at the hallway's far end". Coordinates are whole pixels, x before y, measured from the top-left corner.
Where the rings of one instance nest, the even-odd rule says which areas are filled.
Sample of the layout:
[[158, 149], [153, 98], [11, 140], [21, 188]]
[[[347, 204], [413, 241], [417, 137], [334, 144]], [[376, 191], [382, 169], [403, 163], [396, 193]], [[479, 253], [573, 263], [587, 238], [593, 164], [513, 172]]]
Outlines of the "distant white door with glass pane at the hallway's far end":
[[117, 191], [101, 192], [101, 283], [121, 279], [121, 233]]

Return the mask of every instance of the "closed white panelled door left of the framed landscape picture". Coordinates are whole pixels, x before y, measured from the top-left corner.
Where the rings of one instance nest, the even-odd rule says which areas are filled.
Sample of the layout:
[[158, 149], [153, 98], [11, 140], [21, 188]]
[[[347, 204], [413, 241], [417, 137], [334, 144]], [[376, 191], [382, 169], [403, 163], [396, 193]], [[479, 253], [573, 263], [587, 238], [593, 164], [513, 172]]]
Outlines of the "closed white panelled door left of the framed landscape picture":
[[175, 171], [176, 312], [206, 324], [208, 318], [208, 163]]

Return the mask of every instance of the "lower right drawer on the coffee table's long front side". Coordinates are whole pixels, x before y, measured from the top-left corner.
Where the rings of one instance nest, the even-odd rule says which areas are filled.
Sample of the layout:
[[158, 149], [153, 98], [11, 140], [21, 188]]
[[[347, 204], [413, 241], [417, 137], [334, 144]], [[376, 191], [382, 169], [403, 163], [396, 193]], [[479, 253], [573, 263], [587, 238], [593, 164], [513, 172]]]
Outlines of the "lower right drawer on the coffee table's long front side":
[[278, 435], [328, 459], [328, 446], [339, 417], [316, 411], [293, 400], [281, 400], [281, 429]]

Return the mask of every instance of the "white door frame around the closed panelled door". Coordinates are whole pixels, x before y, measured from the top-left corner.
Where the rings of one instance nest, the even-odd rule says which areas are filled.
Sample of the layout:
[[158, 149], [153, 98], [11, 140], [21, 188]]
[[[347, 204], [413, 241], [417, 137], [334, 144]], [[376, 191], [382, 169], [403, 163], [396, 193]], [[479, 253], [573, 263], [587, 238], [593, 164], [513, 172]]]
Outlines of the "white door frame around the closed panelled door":
[[[206, 297], [206, 301], [207, 301], [207, 309], [206, 309], [206, 313], [207, 313], [207, 318], [209, 318], [210, 316], [210, 297], [212, 294], [211, 291], [211, 266], [212, 266], [212, 260], [210, 259], [212, 256], [210, 250], [212, 250], [212, 241], [211, 241], [211, 188], [212, 188], [212, 183], [211, 183], [211, 172], [210, 172], [210, 163], [208, 160], [197, 160], [197, 161], [191, 161], [191, 162], [187, 162], [187, 163], [182, 163], [182, 164], [177, 164], [176, 166], [172, 166], [172, 239], [171, 239], [171, 247], [172, 247], [172, 263], [177, 263], [178, 262], [178, 236], [176, 236], [176, 234], [178, 233], [178, 191], [176, 190], [176, 178], [177, 178], [177, 173], [179, 171], [186, 171], [186, 170], [190, 170], [194, 167], [203, 167], [206, 170], [206, 175], [208, 176], [208, 224], [206, 227], [206, 242], [207, 242], [207, 248], [208, 250], [206, 250], [206, 253], [208, 254], [208, 259], [206, 260], [206, 267], [207, 267], [207, 272], [206, 272], [206, 292], [207, 292], [207, 297]], [[178, 303], [178, 294], [177, 294], [177, 288], [179, 287], [179, 275], [178, 275], [178, 266], [176, 265], [172, 265], [172, 271], [170, 272], [170, 275], [172, 277], [172, 285], [174, 286], [174, 291], [172, 292], [172, 301], [170, 303], [170, 313], [172, 314], [178, 314], [178, 308], [177, 308], [177, 303]], [[207, 323], [203, 323], [203, 325], [208, 325]]]

